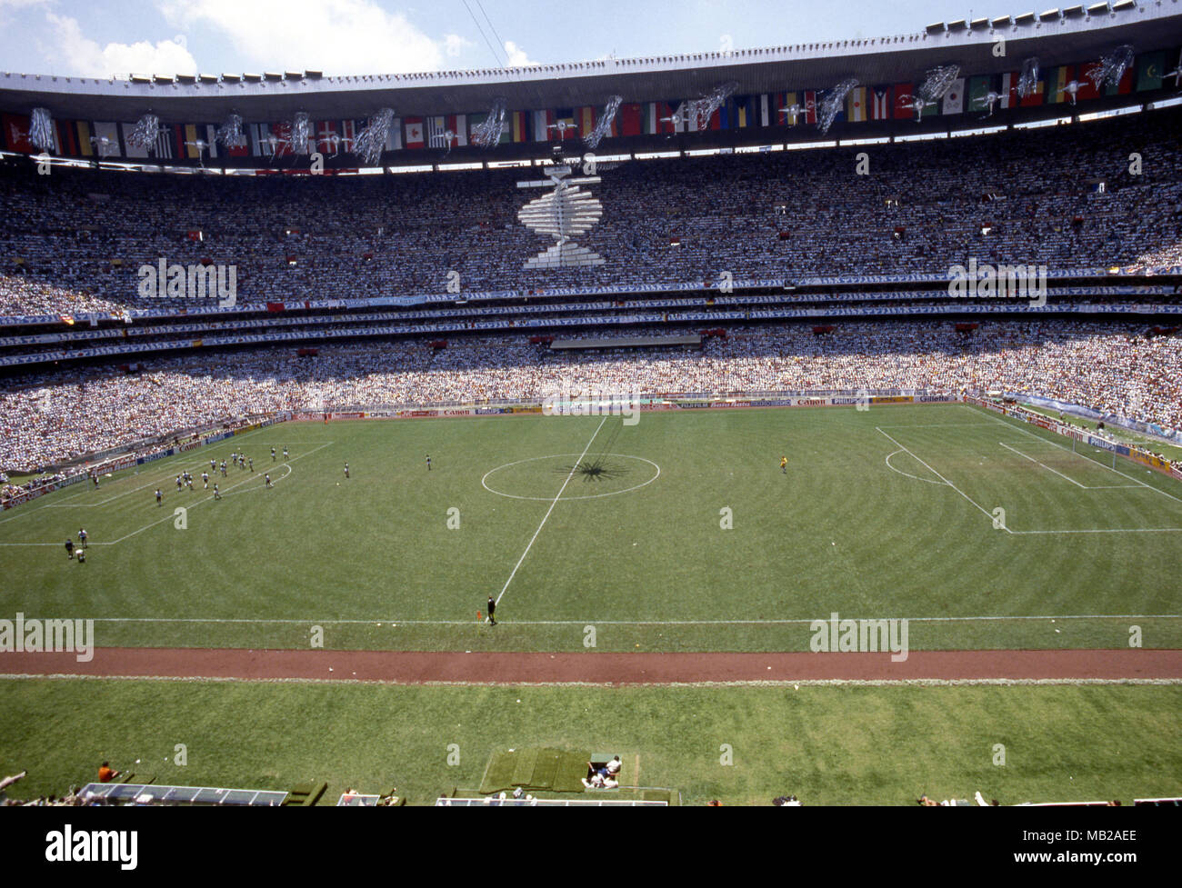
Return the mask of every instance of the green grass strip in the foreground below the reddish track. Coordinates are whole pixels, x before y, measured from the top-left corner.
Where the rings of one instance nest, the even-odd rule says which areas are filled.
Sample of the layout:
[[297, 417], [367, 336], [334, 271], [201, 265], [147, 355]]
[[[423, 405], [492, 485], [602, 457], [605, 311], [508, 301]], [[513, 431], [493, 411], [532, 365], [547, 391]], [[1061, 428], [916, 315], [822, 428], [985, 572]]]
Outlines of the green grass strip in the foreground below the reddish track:
[[[290, 789], [326, 781], [429, 804], [475, 795], [494, 751], [621, 753], [622, 784], [689, 804], [1004, 804], [1182, 795], [1182, 688], [423, 687], [0, 681], [0, 773], [14, 797], [93, 779], [100, 762], [160, 783]], [[173, 764], [175, 744], [188, 764]], [[449, 745], [459, 764], [449, 765]], [[733, 764], [722, 765], [729, 745]], [[996, 745], [1005, 764], [994, 764]], [[139, 758], [141, 763], [135, 764]], [[168, 759], [168, 760], [165, 760]], [[505, 770], [512, 781], [512, 766]], [[502, 781], [504, 782], [504, 781]]]

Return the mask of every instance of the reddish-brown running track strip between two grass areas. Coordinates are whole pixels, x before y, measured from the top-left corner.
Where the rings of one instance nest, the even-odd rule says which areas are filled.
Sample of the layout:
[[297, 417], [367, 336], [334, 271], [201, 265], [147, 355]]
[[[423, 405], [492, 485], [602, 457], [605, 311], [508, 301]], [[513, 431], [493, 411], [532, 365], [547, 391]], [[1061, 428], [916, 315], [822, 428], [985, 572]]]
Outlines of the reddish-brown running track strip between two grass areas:
[[1182, 651], [915, 651], [889, 653], [460, 653], [96, 648], [0, 653], [0, 675], [376, 681], [390, 684], [671, 685], [794, 681], [1177, 681]]

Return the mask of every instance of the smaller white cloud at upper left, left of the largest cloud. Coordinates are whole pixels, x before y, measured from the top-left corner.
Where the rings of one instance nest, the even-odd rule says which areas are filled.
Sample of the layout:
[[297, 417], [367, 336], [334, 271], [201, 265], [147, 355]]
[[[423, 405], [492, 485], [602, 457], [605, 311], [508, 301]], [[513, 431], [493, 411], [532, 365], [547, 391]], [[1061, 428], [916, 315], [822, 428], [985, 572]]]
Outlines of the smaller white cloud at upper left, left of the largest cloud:
[[[0, 0], [2, 1], [2, 0]], [[194, 74], [196, 59], [181, 44], [160, 40], [155, 44], [141, 40], [135, 44], [106, 44], [99, 46], [83, 35], [77, 19], [45, 13], [52, 35], [43, 47], [52, 73], [71, 77], [126, 77], [144, 74]]]

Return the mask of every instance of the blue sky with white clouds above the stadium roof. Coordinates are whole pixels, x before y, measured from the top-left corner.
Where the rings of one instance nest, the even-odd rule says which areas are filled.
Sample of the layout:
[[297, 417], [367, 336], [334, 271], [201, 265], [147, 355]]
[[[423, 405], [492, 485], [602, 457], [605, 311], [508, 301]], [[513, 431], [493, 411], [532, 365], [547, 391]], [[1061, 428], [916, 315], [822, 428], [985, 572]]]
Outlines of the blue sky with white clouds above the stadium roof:
[[0, 0], [0, 70], [401, 73], [882, 37], [1024, 11], [955, 0]]

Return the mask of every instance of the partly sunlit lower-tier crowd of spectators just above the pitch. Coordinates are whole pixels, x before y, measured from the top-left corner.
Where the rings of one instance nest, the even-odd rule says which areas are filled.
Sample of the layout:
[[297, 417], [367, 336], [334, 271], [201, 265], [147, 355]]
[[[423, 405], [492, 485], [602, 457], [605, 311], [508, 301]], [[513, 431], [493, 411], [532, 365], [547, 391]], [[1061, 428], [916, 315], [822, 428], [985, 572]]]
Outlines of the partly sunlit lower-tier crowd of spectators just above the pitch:
[[[655, 331], [626, 331], [636, 335]], [[661, 332], [668, 332], [662, 329]], [[199, 353], [17, 377], [0, 392], [0, 468], [32, 471], [129, 440], [278, 410], [663, 394], [914, 389], [1058, 398], [1182, 429], [1182, 338], [1092, 321], [735, 327], [701, 350], [553, 351], [526, 335]]]

